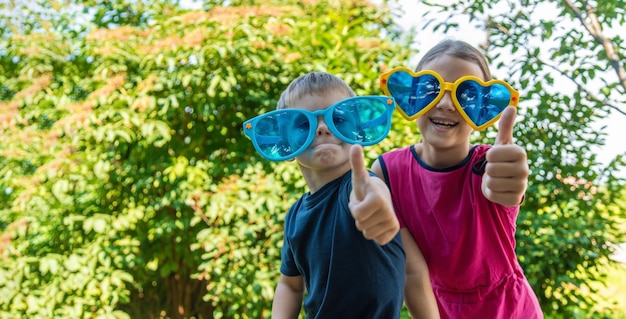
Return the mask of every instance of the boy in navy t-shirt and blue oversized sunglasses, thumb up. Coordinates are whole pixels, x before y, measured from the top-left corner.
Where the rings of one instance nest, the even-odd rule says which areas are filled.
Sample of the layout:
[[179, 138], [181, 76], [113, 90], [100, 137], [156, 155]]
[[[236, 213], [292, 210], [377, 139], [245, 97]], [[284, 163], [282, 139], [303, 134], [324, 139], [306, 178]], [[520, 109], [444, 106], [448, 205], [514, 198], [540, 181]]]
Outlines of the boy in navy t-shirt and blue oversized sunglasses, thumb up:
[[287, 87], [277, 111], [244, 123], [257, 151], [295, 159], [309, 188], [285, 218], [272, 318], [297, 318], [303, 298], [307, 318], [400, 317], [398, 222], [360, 146], [387, 135], [393, 108], [388, 97], [355, 97], [338, 77], [313, 72]]

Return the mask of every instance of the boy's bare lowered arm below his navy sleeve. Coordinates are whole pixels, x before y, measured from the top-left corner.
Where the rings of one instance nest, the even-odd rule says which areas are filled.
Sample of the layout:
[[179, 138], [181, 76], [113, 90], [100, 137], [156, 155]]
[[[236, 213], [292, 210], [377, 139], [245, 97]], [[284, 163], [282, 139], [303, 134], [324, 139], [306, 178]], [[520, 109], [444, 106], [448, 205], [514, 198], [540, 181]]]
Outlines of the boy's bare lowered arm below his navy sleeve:
[[304, 296], [304, 278], [302, 276], [280, 275], [274, 302], [272, 303], [273, 319], [296, 319], [300, 314]]

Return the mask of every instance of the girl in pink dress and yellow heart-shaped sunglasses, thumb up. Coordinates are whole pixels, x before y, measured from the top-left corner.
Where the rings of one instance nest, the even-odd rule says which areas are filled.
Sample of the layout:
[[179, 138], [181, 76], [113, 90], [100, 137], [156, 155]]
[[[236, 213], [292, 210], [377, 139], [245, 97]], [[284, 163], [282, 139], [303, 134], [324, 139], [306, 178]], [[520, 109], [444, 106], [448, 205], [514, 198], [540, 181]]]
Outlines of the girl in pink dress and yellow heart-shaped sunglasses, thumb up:
[[[394, 69], [381, 85], [422, 139], [372, 167], [400, 222], [409, 311], [423, 307], [432, 284], [442, 318], [542, 318], [515, 254], [529, 171], [526, 151], [513, 144], [518, 93], [489, 81], [485, 57], [462, 41], [439, 43], [415, 72]], [[498, 118], [493, 146], [470, 144], [474, 129]]]

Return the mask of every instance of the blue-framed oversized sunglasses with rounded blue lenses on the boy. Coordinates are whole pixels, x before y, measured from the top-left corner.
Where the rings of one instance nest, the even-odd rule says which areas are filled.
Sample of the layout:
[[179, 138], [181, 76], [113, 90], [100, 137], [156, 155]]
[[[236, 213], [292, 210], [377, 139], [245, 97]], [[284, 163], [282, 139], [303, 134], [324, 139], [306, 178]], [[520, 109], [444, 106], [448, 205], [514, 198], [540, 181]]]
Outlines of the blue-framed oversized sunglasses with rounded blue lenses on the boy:
[[393, 98], [355, 96], [315, 112], [292, 108], [271, 111], [245, 121], [243, 131], [261, 156], [283, 161], [295, 158], [313, 143], [318, 116], [323, 116], [330, 132], [340, 140], [367, 146], [387, 136], [394, 109]]

